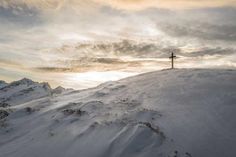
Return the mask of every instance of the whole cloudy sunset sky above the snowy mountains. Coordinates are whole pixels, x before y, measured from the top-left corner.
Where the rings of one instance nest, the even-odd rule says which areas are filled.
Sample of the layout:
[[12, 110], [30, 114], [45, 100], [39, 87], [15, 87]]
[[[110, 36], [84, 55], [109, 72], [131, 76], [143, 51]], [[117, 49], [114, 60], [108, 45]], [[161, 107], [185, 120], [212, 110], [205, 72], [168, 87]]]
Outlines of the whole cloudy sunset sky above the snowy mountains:
[[1, 0], [0, 80], [68, 88], [170, 67], [236, 68], [236, 0]]

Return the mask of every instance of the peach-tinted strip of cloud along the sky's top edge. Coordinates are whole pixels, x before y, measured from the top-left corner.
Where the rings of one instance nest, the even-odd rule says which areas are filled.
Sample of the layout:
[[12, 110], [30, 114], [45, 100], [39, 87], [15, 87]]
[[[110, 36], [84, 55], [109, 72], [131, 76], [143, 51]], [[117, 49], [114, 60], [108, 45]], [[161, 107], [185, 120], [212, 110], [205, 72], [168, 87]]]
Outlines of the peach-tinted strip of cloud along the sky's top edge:
[[46, 10], [60, 10], [67, 7], [76, 10], [107, 5], [117, 9], [143, 10], [146, 8], [190, 9], [235, 6], [236, 3], [235, 0], [2, 0], [0, 5], [4, 7], [23, 5]]

